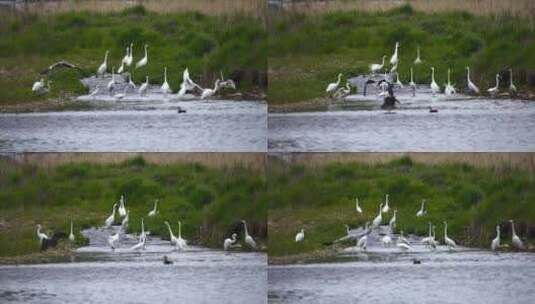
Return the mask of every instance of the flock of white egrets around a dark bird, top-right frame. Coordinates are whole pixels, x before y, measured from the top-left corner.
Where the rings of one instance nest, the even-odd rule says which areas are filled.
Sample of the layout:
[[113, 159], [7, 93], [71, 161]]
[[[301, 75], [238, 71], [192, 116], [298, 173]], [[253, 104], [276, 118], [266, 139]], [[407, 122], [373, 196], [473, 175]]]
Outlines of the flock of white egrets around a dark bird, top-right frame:
[[[377, 76], [382, 71], [384, 72], [384, 74], [382, 75], [384, 81], [376, 82], [376, 81], [370, 79], [370, 80], [368, 80], [366, 82], [366, 86], [368, 84], [371, 84], [371, 83], [376, 83], [377, 87], [379, 89], [381, 89], [381, 90], [378, 91], [379, 92], [378, 93], [379, 96], [385, 96], [386, 95], [386, 87], [387, 86], [386, 86], [385, 82], [386, 83], [392, 82], [394, 87], [397, 87], [397, 88], [403, 88], [404, 87], [403, 82], [401, 81], [401, 79], [399, 77], [399, 73], [398, 73], [398, 65], [399, 65], [399, 62], [400, 62], [400, 59], [399, 59], [399, 47], [400, 47], [399, 42], [396, 42], [396, 45], [394, 47], [394, 53], [392, 54], [392, 56], [390, 57], [390, 60], [389, 60], [390, 70], [388, 69], [387, 64], [386, 64], [386, 58], [387, 58], [386, 55], [382, 56], [381, 63], [372, 63], [372, 64], [369, 65], [369, 70], [370, 70], [370, 73], [371, 73], [372, 76]], [[418, 45], [417, 51], [416, 51], [416, 59], [414, 60], [413, 65], [416, 66], [416, 65], [420, 65], [422, 63], [423, 63], [423, 60], [421, 59], [421, 56], [420, 56], [420, 46]], [[390, 73], [387, 72], [388, 70], [390, 71]], [[442, 88], [435, 80], [435, 67], [431, 67], [430, 68], [431, 81], [429, 83], [429, 88], [431, 89], [431, 92], [432, 92], [433, 96], [436, 96], [437, 94], [440, 94], [440, 93], [444, 93], [444, 95], [446, 95], [446, 96], [453, 96], [453, 95], [457, 94], [457, 89], [455, 88], [455, 85], [451, 82], [450, 74], [451, 74], [451, 69], [448, 69], [447, 70], [448, 82], [444, 85], [444, 88]], [[351, 84], [349, 82], [346, 82], [346, 86], [345, 87], [340, 87], [342, 76], [343, 75], [341, 73], [338, 74], [337, 81], [329, 83], [327, 85], [327, 88], [325, 89], [325, 92], [329, 96], [334, 97], [334, 98], [343, 99], [346, 96], [351, 94]], [[416, 94], [417, 85], [414, 82], [414, 69], [413, 69], [412, 66], [410, 67], [410, 77], [411, 78], [410, 78], [410, 82], [409, 82], [409, 87], [412, 89], [413, 96], [414, 96]], [[395, 79], [395, 81], [394, 81], [394, 79]], [[470, 77], [470, 67], [466, 67], [466, 83], [467, 83], [467, 91], [471, 92], [474, 95], [479, 95], [480, 94], [479, 87], [476, 84], [474, 84], [474, 82], [472, 81], [472, 79]], [[364, 87], [364, 95], [366, 95], [366, 93], [365, 93], [366, 92], [366, 86]], [[509, 88], [508, 88], [508, 90], [509, 90], [509, 94], [511, 96], [515, 96], [517, 91], [518, 91], [517, 87], [513, 83], [513, 70], [512, 69], [509, 69]], [[489, 88], [487, 90], [487, 93], [492, 97], [495, 97], [500, 93], [500, 75], [499, 74], [496, 74], [495, 86]]]

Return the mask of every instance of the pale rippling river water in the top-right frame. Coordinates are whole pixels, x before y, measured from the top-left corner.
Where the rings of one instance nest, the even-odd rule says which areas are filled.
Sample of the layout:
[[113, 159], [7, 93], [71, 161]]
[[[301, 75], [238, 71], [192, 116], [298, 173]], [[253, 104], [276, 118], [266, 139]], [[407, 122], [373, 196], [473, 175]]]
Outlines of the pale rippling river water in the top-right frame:
[[[399, 109], [350, 96], [319, 112], [270, 114], [272, 152], [473, 152], [535, 150], [535, 102], [400, 94]], [[430, 113], [429, 106], [438, 113]]]

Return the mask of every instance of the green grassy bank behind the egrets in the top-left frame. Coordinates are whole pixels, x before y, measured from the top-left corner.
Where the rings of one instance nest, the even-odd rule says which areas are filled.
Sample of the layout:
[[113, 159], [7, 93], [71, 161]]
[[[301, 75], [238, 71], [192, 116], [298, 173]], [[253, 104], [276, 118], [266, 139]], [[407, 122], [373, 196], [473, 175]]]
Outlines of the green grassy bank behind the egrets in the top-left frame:
[[[149, 64], [135, 71], [132, 66], [134, 80], [139, 83], [148, 75], [151, 83], [161, 84], [167, 66], [169, 83], [175, 91], [186, 67], [205, 86], [212, 85], [219, 71], [228, 77], [266, 69], [267, 38], [262, 22], [239, 13], [157, 14], [135, 6], [116, 13], [23, 13], [4, 17], [13, 21], [8, 25], [3, 22], [0, 27], [0, 104], [84, 93], [79, 78], [95, 73], [106, 50], [110, 50], [109, 72], [112, 66], [117, 69], [130, 42], [134, 43], [134, 62], [143, 56], [143, 45], [149, 44]], [[54, 73], [52, 92], [46, 96], [34, 94], [31, 86], [41, 77], [39, 73], [61, 59], [80, 66], [82, 71]], [[244, 76], [240, 89], [257, 85]]]

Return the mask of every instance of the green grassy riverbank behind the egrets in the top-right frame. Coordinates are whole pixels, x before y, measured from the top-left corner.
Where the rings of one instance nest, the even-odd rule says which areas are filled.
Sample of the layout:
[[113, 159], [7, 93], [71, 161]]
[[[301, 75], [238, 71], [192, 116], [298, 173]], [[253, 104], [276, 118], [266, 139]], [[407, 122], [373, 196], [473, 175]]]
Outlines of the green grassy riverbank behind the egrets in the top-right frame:
[[287, 11], [271, 16], [268, 35], [270, 104], [323, 97], [338, 73], [345, 79], [367, 73], [382, 55], [388, 61], [396, 41], [401, 44], [398, 71], [403, 82], [409, 80], [420, 45], [423, 64], [415, 67], [417, 83], [430, 83], [434, 66], [441, 86], [451, 68], [456, 87], [464, 88], [469, 65], [482, 90], [494, 86], [498, 72], [508, 87], [507, 69], [513, 68], [517, 87], [535, 91], [535, 58], [530, 55], [535, 52], [535, 28], [523, 17], [423, 13], [408, 5], [378, 12]]

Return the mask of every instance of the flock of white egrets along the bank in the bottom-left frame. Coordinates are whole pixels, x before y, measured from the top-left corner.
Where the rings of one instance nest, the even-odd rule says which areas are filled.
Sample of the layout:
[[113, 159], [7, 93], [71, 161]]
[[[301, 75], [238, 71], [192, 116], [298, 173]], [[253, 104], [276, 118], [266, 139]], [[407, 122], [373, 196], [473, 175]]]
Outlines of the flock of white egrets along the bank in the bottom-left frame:
[[[109, 231], [110, 234], [108, 235], [107, 243], [110, 247], [111, 251], [115, 251], [120, 246], [122, 234], [126, 231], [128, 228], [128, 222], [129, 222], [129, 216], [130, 216], [130, 210], [126, 209], [125, 205], [125, 197], [124, 195], [121, 195], [121, 198], [118, 202], [113, 204], [111, 214], [104, 220], [104, 230]], [[113, 227], [113, 224], [115, 223], [115, 219], [119, 216], [121, 219], [121, 225], [119, 230], [110, 230]], [[147, 216], [148, 217], [157, 217], [159, 215], [158, 211], [158, 200], [156, 199], [154, 201], [154, 207], [151, 209]], [[188, 241], [182, 237], [182, 222], [178, 221], [178, 235], [175, 236], [173, 233], [173, 229], [168, 221], [163, 222], [165, 226], [167, 226], [167, 229], [169, 231], [169, 241], [170, 244], [176, 249], [177, 251], [186, 251], [188, 249]], [[244, 244], [250, 248], [250, 249], [257, 249], [257, 244], [253, 238], [249, 234], [249, 231], [247, 229], [247, 222], [245, 220], [241, 220], [241, 224], [243, 225], [244, 230]], [[46, 249], [48, 246], [46, 246], [46, 242], [52, 237], [49, 237], [46, 233], [42, 231], [41, 224], [37, 225], [36, 230], [37, 238], [39, 240], [39, 244], [41, 246], [41, 249]], [[61, 235], [61, 233], [55, 233], [54, 238], [59, 239], [56, 235]], [[150, 235], [149, 231], [145, 231], [145, 224], [144, 219], [141, 218], [141, 232], [139, 236], [137, 237], [138, 242], [131, 246], [129, 249], [131, 251], [139, 251], [139, 250], [145, 250], [148, 236]], [[73, 231], [73, 221], [70, 222], [70, 233], [68, 236], [68, 240], [71, 244], [75, 242], [75, 236]], [[56, 240], [57, 241], [57, 240]], [[236, 244], [238, 242], [237, 234], [233, 233], [231, 238], [226, 238], [223, 241], [223, 250], [228, 251], [235, 248], [241, 248], [242, 246], [240, 244]]]

